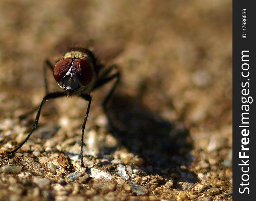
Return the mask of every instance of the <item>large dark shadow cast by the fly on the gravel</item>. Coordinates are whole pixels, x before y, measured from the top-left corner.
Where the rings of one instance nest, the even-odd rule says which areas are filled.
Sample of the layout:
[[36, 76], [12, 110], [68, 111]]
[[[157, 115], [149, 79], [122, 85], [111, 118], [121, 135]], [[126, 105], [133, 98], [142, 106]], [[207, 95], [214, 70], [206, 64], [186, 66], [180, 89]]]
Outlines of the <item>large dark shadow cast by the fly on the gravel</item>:
[[[189, 166], [192, 142], [188, 130], [156, 115], [137, 97], [115, 94], [107, 107], [110, 132], [129, 151], [145, 159], [145, 165], [165, 169]], [[194, 175], [194, 179], [196, 176]]]

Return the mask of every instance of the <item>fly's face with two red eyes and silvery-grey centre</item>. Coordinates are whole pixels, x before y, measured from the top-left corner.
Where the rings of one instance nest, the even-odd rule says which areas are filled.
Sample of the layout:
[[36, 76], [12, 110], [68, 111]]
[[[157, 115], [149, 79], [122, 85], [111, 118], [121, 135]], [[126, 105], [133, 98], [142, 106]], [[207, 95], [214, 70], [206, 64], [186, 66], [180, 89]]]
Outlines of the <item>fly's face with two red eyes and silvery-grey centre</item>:
[[86, 60], [67, 57], [56, 63], [53, 77], [64, 92], [71, 96], [83, 90], [92, 81], [93, 70]]

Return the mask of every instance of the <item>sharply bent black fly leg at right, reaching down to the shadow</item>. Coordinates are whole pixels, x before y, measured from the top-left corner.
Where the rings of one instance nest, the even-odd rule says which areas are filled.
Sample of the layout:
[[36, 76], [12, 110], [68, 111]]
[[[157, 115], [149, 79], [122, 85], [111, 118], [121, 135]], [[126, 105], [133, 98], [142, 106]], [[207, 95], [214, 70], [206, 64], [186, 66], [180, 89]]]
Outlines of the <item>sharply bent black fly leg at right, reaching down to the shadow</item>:
[[93, 87], [93, 90], [101, 87], [102, 85], [106, 84], [107, 82], [113, 80], [113, 79], [116, 79], [112, 88], [110, 89], [110, 91], [108, 92], [107, 96], [105, 97], [105, 99], [103, 100], [102, 102], [102, 107], [103, 107], [103, 110], [107, 116], [107, 119], [108, 119], [108, 122], [109, 124], [114, 128], [113, 124], [111, 123], [111, 120], [110, 120], [110, 117], [109, 117], [109, 114], [107, 112], [107, 103], [111, 97], [111, 95], [113, 94], [114, 92], [114, 89], [116, 88], [119, 80], [120, 80], [120, 73], [117, 69], [117, 72], [114, 73], [113, 75], [110, 75], [109, 76], [109, 73], [113, 70], [113, 69], [117, 69], [117, 66], [114, 64], [112, 66], [109, 67], [109, 69], [103, 74], [103, 76], [99, 79], [99, 81], [97, 81]]

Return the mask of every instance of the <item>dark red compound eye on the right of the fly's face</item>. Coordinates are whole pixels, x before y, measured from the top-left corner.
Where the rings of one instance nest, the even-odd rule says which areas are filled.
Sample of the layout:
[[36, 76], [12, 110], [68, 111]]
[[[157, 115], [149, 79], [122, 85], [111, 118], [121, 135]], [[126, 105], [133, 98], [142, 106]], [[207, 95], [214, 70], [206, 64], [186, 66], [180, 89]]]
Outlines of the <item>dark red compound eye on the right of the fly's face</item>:
[[93, 78], [93, 71], [90, 64], [83, 59], [75, 59], [74, 70], [82, 85], [87, 85]]

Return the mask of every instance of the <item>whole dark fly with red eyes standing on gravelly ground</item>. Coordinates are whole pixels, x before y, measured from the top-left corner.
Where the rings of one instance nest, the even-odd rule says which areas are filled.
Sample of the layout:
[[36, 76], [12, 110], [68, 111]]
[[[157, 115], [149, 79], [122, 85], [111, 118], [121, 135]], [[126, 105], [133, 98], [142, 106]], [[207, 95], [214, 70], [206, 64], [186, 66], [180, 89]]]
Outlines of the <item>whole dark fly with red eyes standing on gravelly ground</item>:
[[[106, 112], [106, 104], [110, 99], [111, 94], [113, 93], [117, 83], [119, 82], [119, 71], [111, 75], [113, 69], [117, 69], [117, 66], [114, 64], [108, 67], [105, 71], [102, 70], [104, 65], [99, 64], [96, 60], [92, 51], [87, 48], [76, 47], [71, 49], [69, 52], [64, 54], [63, 58], [59, 60], [54, 66], [46, 60], [44, 66], [44, 81], [45, 81], [45, 90], [46, 95], [43, 97], [39, 109], [37, 111], [35, 123], [29, 132], [26, 139], [15, 149], [12, 151], [6, 151], [6, 153], [13, 153], [20, 149], [25, 142], [29, 139], [31, 134], [34, 132], [38, 125], [41, 109], [43, 104], [53, 98], [59, 98], [62, 96], [71, 96], [77, 95], [84, 100], [88, 101], [87, 110], [84, 116], [84, 120], [82, 123], [82, 134], [81, 134], [81, 167], [84, 167], [83, 163], [83, 136], [84, 129], [86, 125], [86, 121], [88, 118], [90, 105], [92, 102], [92, 97], [90, 96], [90, 92], [99, 88], [100, 86], [106, 84], [107, 82], [115, 79], [115, 82], [102, 102], [102, 106], [104, 111]], [[46, 78], [46, 67], [49, 67], [53, 72], [53, 77], [58, 85], [63, 89], [63, 92], [53, 92], [49, 93], [48, 84]], [[101, 75], [99, 72], [104, 71]]]

